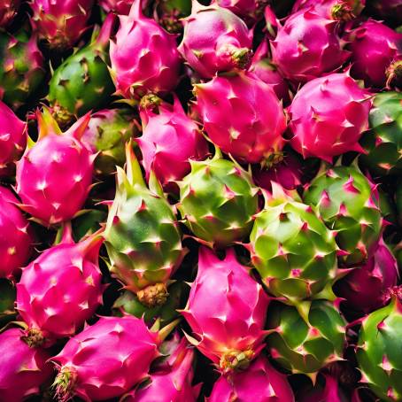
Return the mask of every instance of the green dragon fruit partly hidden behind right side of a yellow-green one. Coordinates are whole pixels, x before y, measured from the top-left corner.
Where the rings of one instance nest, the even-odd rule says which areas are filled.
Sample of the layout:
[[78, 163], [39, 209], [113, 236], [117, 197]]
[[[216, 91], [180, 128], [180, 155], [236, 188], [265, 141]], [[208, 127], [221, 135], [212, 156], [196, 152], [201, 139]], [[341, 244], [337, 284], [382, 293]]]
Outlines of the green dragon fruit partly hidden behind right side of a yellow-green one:
[[345, 251], [342, 262], [361, 264], [373, 255], [383, 220], [375, 185], [354, 166], [327, 169], [306, 186], [304, 200], [315, 205], [325, 224], [335, 230]]

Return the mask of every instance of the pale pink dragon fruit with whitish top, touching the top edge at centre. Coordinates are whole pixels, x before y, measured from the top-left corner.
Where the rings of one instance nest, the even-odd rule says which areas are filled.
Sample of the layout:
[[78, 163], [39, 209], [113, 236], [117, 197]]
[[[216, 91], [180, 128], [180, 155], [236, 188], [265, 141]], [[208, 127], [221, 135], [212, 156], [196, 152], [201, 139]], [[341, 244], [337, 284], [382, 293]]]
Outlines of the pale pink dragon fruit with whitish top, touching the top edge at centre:
[[192, 0], [179, 51], [201, 77], [213, 78], [218, 72], [250, 65], [251, 35], [243, 19], [228, 9]]

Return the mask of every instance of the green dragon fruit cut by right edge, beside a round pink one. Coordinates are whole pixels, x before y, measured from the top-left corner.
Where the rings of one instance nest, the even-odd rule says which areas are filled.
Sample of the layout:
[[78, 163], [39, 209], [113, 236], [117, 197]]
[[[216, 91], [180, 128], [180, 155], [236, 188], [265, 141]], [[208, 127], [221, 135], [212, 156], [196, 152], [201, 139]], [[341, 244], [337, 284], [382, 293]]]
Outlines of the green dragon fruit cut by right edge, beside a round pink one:
[[402, 94], [382, 92], [375, 96], [370, 111], [371, 130], [361, 139], [367, 151], [360, 155], [362, 166], [372, 174], [402, 173]]

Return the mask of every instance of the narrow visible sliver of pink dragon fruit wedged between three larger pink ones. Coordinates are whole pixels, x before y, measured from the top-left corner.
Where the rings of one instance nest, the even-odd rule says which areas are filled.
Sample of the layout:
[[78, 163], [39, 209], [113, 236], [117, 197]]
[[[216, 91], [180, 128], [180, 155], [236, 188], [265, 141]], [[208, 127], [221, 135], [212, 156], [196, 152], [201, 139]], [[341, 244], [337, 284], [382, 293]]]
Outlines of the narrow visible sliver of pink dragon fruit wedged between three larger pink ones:
[[259, 48], [254, 53], [249, 71], [274, 89], [274, 93], [279, 100], [282, 100], [284, 106], [289, 106], [289, 85], [268, 58], [268, 43], [266, 40], [259, 44]]

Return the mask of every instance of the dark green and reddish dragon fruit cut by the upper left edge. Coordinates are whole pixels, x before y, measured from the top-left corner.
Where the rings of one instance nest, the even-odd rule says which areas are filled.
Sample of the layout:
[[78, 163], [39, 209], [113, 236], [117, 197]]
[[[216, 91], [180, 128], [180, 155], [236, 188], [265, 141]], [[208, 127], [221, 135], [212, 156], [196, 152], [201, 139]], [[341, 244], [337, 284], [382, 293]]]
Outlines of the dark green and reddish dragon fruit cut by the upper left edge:
[[0, 97], [13, 109], [36, 95], [45, 77], [36, 35], [0, 34]]

